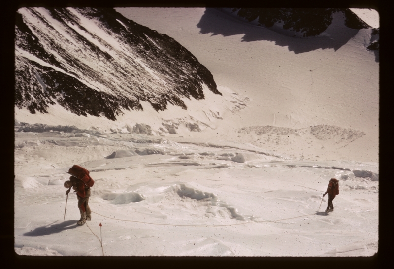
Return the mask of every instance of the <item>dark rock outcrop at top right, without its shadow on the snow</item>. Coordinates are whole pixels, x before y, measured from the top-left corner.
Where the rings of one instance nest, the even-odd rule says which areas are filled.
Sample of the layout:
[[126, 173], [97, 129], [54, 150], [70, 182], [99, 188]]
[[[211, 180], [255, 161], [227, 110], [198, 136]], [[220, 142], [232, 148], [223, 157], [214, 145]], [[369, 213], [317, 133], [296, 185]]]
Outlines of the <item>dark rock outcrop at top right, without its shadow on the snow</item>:
[[323, 33], [332, 22], [332, 13], [343, 12], [345, 25], [352, 29], [370, 28], [349, 8], [232, 8], [233, 13], [259, 26], [283, 23], [283, 29], [303, 33], [303, 37]]

